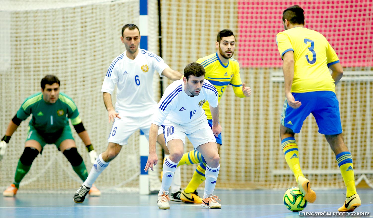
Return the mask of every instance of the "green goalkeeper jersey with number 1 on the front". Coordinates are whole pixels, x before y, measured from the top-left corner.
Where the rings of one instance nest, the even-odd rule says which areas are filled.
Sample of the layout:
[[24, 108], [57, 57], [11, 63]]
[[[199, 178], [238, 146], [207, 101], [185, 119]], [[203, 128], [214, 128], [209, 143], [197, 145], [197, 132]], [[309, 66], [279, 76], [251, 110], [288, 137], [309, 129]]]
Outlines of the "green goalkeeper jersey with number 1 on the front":
[[82, 122], [73, 100], [61, 92], [56, 103], [45, 102], [41, 92], [29, 96], [18, 110], [17, 117], [25, 120], [31, 114], [29, 125], [42, 135], [62, 132], [69, 125], [69, 119], [73, 125]]

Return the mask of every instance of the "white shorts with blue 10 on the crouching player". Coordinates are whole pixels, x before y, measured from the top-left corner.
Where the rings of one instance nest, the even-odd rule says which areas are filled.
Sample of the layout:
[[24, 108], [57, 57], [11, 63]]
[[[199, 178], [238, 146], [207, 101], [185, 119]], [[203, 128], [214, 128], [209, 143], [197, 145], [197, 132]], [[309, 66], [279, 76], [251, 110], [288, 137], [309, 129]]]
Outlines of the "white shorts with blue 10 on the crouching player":
[[186, 124], [177, 124], [166, 119], [163, 122], [162, 130], [166, 145], [173, 139], [182, 140], [184, 145], [185, 136], [189, 138], [195, 150], [201, 144], [206, 144], [210, 141], [216, 143], [216, 138], [206, 118], [197, 119]]

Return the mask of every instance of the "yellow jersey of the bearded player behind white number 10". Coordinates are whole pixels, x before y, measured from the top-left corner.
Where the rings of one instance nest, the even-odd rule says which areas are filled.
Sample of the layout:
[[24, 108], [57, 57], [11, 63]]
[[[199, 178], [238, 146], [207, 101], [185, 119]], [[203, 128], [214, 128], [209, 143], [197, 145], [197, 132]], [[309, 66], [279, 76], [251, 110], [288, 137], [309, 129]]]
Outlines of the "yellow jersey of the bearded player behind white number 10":
[[[233, 91], [238, 97], [245, 97], [242, 92], [242, 81], [239, 75], [239, 64], [234, 58], [230, 58], [227, 64], [222, 63], [217, 56], [217, 52], [206, 57], [201, 57], [197, 60], [206, 71], [205, 79], [209, 80], [214, 85], [219, 93], [218, 102], [223, 96], [223, 93], [228, 85], [232, 85]], [[203, 104], [207, 119], [212, 119], [209, 103]]]

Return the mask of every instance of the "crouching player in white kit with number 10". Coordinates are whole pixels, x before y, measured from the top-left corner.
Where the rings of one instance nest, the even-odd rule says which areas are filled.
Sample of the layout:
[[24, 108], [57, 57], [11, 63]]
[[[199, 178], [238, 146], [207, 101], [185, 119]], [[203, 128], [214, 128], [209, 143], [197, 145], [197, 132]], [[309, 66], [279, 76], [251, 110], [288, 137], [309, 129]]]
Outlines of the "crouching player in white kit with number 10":
[[[220, 169], [220, 158], [214, 137], [222, 130], [219, 125], [218, 93], [216, 88], [205, 80], [204, 75], [205, 70], [199, 63], [186, 65], [183, 80], [175, 81], [166, 88], [151, 122], [149, 156], [145, 171], [149, 168], [153, 170], [153, 165], [158, 162], [156, 140], [160, 125], [170, 151], [170, 156], [163, 164], [162, 187], [157, 198], [160, 209], [170, 209], [168, 189], [176, 166], [184, 154], [185, 136], [188, 136], [194, 148], [201, 152], [207, 162], [205, 192], [201, 205], [207, 208], [221, 208], [220, 203], [217, 203], [219, 199], [212, 194]], [[206, 101], [210, 104], [212, 127], [209, 126], [202, 109]]]

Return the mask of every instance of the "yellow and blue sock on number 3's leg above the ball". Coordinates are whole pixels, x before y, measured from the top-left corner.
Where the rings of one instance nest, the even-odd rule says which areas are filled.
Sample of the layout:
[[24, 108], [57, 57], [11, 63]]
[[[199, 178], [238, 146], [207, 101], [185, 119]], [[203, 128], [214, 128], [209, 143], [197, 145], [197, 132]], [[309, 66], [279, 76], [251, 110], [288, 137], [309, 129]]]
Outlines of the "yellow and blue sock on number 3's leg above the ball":
[[301, 165], [299, 163], [298, 144], [294, 137], [284, 138], [281, 141], [282, 151], [285, 154], [286, 163], [288, 163], [291, 171], [298, 183], [298, 177], [303, 176]]

